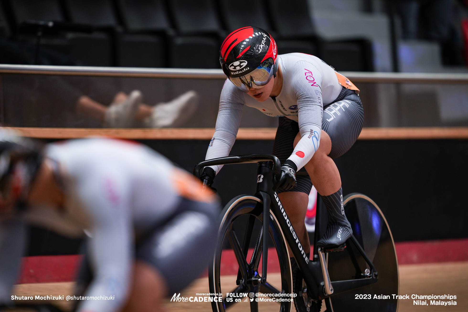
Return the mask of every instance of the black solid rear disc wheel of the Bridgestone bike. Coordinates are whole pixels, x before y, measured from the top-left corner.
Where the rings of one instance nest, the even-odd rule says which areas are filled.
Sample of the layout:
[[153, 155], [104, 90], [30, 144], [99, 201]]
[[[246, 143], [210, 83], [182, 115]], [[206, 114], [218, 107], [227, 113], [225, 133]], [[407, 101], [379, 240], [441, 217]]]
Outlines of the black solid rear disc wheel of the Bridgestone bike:
[[[335, 312], [396, 312], [399, 293], [395, 243], [382, 211], [369, 197], [353, 193], [343, 199], [344, 212], [353, 235], [379, 274], [377, 283], [330, 297]], [[357, 248], [346, 241], [346, 249], [328, 254], [331, 281], [363, 278], [370, 269]], [[388, 297], [384, 297], [388, 296]]]

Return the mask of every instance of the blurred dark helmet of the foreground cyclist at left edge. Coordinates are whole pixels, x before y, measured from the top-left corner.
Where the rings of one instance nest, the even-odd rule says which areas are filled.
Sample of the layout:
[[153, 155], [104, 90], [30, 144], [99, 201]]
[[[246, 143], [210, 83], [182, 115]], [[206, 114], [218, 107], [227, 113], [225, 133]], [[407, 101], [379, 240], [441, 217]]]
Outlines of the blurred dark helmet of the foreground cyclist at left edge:
[[33, 141], [0, 129], [0, 210], [26, 202], [40, 163], [40, 149]]

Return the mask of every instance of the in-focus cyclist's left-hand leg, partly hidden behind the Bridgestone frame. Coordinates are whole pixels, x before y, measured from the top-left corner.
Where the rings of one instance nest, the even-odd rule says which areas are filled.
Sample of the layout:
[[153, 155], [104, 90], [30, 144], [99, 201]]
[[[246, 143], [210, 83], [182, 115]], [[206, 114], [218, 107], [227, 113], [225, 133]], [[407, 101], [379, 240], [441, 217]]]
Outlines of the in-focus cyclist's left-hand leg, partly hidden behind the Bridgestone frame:
[[[294, 138], [298, 133], [298, 123], [286, 117], [279, 118], [278, 130], [273, 144], [273, 155], [278, 157], [281, 164], [291, 156], [294, 149]], [[310, 251], [310, 242], [306, 225], [304, 224], [304, 219], [306, 217], [312, 182], [310, 181], [310, 178], [305, 175], [298, 175], [296, 176], [296, 179], [297, 183], [295, 188], [289, 191], [278, 189], [277, 193], [289, 219], [291, 220], [292, 226], [299, 237], [300, 243], [304, 247], [304, 251], [307, 253]], [[292, 255], [291, 250], [289, 250], [289, 253]]]

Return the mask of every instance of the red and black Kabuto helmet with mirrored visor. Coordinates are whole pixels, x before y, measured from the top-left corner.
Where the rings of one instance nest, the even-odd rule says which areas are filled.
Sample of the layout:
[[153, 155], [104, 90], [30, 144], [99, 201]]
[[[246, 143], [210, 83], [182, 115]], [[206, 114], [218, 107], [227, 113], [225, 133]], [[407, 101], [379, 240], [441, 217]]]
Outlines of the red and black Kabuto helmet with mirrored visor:
[[278, 70], [275, 40], [258, 27], [234, 30], [224, 39], [219, 54], [223, 72], [243, 92], [263, 87]]

